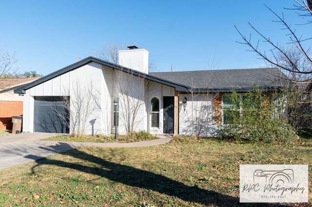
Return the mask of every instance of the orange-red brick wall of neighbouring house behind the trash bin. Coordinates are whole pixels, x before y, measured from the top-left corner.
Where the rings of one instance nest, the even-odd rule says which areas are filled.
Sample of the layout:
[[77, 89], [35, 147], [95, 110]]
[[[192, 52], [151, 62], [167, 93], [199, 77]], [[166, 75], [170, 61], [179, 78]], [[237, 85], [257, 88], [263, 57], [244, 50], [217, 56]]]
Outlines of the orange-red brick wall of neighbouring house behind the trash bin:
[[22, 101], [0, 101], [0, 130], [12, 130], [12, 116], [23, 114]]

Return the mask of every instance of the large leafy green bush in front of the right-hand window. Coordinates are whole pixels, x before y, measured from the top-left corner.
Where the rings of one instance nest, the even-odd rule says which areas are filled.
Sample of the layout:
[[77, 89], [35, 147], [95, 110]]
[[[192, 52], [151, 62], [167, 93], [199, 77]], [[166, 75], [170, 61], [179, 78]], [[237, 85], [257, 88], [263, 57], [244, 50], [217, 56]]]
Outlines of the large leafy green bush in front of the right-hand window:
[[227, 123], [219, 131], [220, 138], [265, 143], [290, 142], [297, 138], [283, 118], [285, 105], [278, 95], [263, 94], [257, 89], [243, 96], [233, 92], [226, 99], [228, 108], [223, 113]]

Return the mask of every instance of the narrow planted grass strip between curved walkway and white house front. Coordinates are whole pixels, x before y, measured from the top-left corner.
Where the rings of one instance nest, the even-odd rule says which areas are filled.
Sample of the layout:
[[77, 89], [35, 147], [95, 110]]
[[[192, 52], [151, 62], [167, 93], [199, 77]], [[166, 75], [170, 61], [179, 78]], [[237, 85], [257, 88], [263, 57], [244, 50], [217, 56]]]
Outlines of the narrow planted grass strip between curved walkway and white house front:
[[152, 134], [140, 131], [134, 132], [129, 135], [118, 135], [118, 139], [115, 139], [115, 135], [59, 135], [54, 137], [48, 137], [42, 140], [49, 141], [65, 141], [65, 142], [96, 142], [96, 143], [108, 143], [108, 142], [119, 142], [119, 143], [128, 143], [128, 142], [139, 142], [144, 140], [153, 140], [158, 139], [158, 137], [153, 136]]

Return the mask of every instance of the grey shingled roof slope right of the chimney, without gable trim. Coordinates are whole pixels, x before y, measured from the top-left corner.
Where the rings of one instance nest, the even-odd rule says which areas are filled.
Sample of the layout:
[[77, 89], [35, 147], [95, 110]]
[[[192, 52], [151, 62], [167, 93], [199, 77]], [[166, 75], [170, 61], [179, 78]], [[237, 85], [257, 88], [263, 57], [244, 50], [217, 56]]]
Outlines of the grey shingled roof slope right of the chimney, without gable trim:
[[277, 68], [157, 72], [149, 75], [211, 92], [247, 92], [255, 85], [262, 89], [276, 89], [283, 87], [287, 79]]

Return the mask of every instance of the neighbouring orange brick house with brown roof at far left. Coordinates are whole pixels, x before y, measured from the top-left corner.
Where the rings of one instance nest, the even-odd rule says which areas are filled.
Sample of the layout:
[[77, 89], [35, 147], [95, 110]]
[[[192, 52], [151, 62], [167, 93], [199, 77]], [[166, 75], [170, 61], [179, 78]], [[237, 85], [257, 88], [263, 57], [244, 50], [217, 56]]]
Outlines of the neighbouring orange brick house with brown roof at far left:
[[23, 114], [23, 96], [13, 90], [38, 78], [0, 78], [0, 130], [12, 130], [11, 117]]

